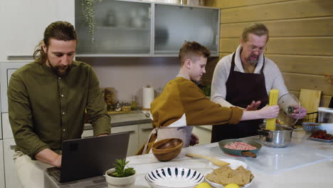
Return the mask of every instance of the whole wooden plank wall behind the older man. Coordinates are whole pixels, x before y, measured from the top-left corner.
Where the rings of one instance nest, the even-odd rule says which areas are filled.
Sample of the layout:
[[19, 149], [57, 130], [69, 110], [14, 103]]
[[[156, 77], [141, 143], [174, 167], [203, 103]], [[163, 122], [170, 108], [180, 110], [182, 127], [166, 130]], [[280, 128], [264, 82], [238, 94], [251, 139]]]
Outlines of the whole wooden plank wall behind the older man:
[[322, 90], [320, 106], [329, 105], [333, 85], [324, 74], [333, 74], [332, 0], [215, 0], [215, 6], [221, 8], [220, 59], [236, 50], [245, 26], [260, 21], [270, 30], [265, 56], [280, 68], [290, 93]]

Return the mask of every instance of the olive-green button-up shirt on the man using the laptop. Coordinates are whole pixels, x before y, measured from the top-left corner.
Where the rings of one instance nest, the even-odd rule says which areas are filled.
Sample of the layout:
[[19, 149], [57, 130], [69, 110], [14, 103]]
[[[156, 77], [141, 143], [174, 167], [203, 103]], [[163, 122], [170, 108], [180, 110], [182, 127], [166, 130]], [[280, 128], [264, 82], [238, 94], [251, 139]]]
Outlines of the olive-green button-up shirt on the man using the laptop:
[[34, 158], [46, 148], [61, 150], [63, 140], [80, 138], [85, 109], [94, 135], [110, 134], [111, 120], [93, 69], [73, 61], [58, 76], [45, 63], [29, 63], [11, 75], [9, 122], [16, 150]]

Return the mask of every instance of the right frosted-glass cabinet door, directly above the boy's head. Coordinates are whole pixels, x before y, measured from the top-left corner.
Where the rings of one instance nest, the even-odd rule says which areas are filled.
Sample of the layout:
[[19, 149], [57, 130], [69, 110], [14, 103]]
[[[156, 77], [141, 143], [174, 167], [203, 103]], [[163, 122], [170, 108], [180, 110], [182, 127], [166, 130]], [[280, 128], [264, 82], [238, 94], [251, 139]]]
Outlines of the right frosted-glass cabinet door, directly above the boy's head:
[[166, 4], [154, 9], [154, 56], [177, 56], [184, 41], [201, 43], [218, 56], [218, 9]]

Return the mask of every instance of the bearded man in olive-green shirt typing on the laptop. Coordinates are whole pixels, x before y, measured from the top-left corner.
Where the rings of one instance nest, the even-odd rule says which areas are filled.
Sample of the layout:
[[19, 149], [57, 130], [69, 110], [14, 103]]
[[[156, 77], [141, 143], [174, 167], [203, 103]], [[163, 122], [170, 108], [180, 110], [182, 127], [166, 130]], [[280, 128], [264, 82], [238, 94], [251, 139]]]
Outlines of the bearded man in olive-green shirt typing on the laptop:
[[35, 61], [11, 75], [9, 122], [24, 188], [44, 187], [43, 171], [61, 167], [61, 143], [81, 137], [85, 110], [95, 136], [110, 134], [110, 116], [93, 68], [73, 61], [77, 43], [72, 24], [53, 22], [33, 53]]

